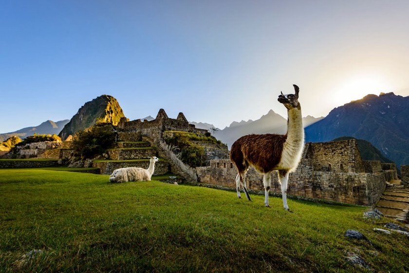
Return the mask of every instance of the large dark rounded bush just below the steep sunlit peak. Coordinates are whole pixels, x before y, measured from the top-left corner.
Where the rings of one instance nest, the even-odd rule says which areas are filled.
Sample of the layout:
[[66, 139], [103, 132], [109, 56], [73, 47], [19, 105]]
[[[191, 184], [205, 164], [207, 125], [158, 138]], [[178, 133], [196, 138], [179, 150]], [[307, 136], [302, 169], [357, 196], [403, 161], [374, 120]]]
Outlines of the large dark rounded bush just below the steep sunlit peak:
[[71, 147], [81, 158], [92, 158], [105, 152], [115, 142], [112, 125], [97, 124], [75, 133]]

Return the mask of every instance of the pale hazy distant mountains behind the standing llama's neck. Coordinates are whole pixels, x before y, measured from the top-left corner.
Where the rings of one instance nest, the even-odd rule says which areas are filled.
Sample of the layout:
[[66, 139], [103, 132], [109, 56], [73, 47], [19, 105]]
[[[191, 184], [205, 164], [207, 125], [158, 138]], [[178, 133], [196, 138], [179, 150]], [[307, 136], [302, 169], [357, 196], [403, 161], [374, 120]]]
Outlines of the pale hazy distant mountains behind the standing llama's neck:
[[[307, 116], [302, 118], [302, 121], [304, 127], [306, 127], [321, 119], [323, 119], [323, 117], [315, 118], [312, 116]], [[202, 129], [210, 129], [211, 127], [214, 127], [208, 123], [191, 122], [191, 124], [194, 124], [196, 127]], [[230, 148], [232, 144], [243, 135], [266, 133], [285, 134], [286, 132], [287, 119], [275, 113], [273, 110], [270, 110], [258, 120], [242, 120], [241, 122], [234, 121], [230, 124], [230, 126], [216, 131], [214, 136], [218, 140], [221, 140], [223, 143], [227, 144], [227, 146]]]

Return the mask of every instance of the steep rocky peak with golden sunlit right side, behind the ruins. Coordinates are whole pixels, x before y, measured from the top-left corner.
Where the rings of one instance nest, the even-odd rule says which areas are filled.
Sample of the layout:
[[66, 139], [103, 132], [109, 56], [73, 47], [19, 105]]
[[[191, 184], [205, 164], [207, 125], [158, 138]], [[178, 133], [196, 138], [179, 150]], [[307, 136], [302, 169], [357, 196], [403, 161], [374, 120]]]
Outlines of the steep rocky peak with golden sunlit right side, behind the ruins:
[[125, 116], [118, 101], [110, 95], [102, 95], [78, 109], [78, 112], [64, 126], [58, 136], [65, 140], [69, 135], [74, 135], [77, 131], [91, 127], [97, 121], [117, 125], [121, 117]]

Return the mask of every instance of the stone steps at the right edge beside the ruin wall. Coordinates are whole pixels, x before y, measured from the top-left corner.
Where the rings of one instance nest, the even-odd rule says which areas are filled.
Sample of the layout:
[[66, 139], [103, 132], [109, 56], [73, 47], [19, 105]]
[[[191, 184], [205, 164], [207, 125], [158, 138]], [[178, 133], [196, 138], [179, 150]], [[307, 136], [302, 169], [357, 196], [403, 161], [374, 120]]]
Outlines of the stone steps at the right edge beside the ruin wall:
[[408, 221], [409, 187], [401, 184], [400, 180], [388, 182], [375, 208], [379, 209], [386, 217], [403, 222]]

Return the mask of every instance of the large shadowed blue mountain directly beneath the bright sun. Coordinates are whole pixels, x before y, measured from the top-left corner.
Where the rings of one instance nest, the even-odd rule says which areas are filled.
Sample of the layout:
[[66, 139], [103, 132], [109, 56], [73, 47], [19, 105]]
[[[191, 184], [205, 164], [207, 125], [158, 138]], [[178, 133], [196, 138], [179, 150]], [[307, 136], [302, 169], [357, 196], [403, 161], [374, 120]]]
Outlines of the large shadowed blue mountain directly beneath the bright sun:
[[338, 137], [364, 139], [396, 163], [409, 164], [409, 96], [394, 93], [367, 95], [333, 109], [327, 117], [305, 128], [307, 142]]

